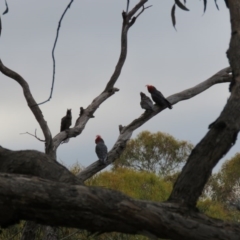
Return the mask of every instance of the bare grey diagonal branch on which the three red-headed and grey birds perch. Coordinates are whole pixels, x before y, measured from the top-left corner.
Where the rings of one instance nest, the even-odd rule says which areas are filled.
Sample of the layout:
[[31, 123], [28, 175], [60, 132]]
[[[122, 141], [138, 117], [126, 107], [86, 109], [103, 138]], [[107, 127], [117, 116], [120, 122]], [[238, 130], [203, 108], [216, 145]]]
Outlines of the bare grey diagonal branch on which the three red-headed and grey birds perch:
[[[224, 68], [221, 71], [214, 74], [212, 77], [207, 79], [206, 81], [196, 85], [193, 88], [189, 88], [187, 90], [184, 90], [182, 92], [176, 93], [174, 95], [171, 95], [167, 98], [167, 100], [172, 104], [176, 104], [180, 101], [192, 98], [201, 92], [205, 91], [206, 89], [210, 88], [211, 86], [218, 84], [218, 83], [225, 83], [225, 82], [231, 82], [232, 76], [229, 74], [230, 68]], [[111, 164], [116, 159], [119, 158], [123, 150], [125, 149], [127, 141], [130, 139], [132, 133], [137, 128], [141, 127], [144, 123], [146, 123], [148, 120], [153, 118], [155, 115], [157, 115], [159, 112], [164, 110], [164, 108], [161, 108], [157, 105], [154, 107], [154, 112], [147, 112], [145, 111], [139, 118], [132, 121], [128, 126], [121, 128], [121, 133], [114, 144], [113, 148], [108, 153], [108, 164]], [[81, 179], [81, 181], [85, 181], [88, 178], [92, 177], [94, 174], [99, 172], [100, 170], [104, 169], [107, 165], [102, 165], [99, 161], [94, 162], [87, 168], [85, 168], [83, 171], [81, 171], [78, 174], [78, 177]]]

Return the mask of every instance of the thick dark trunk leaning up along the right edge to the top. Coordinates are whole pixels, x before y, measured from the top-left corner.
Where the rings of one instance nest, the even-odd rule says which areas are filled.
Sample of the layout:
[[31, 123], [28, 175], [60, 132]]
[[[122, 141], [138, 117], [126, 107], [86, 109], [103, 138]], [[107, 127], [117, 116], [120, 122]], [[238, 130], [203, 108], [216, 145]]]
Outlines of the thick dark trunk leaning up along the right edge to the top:
[[232, 36], [228, 58], [233, 76], [232, 93], [219, 118], [193, 149], [169, 198], [169, 201], [190, 207], [195, 207], [213, 167], [235, 144], [240, 130], [240, 1], [229, 0], [229, 8]]

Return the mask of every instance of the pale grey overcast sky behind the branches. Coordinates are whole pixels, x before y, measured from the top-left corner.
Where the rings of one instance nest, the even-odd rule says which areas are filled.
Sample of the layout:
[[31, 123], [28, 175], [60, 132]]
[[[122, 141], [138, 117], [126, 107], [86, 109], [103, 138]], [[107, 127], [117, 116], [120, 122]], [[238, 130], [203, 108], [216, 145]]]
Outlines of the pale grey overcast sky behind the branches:
[[[137, 2], [131, 0], [130, 7]], [[153, 6], [129, 31], [127, 59], [115, 85], [120, 91], [100, 106], [80, 136], [60, 146], [60, 162], [70, 166], [78, 161], [88, 166], [96, 161], [97, 134], [111, 149], [119, 135], [118, 125], [127, 125], [143, 113], [139, 92], [147, 93], [146, 84], [156, 86], [168, 97], [228, 66], [230, 21], [224, 1], [218, 1], [220, 11], [214, 1], [208, 1], [204, 15], [203, 1], [187, 1], [189, 12], [176, 9], [177, 31], [170, 16], [173, 2], [148, 1], [147, 5]], [[1, 60], [28, 81], [37, 102], [46, 100], [50, 93], [51, 51], [58, 21], [68, 3], [69, 0], [8, 0], [9, 13], [1, 16]], [[59, 132], [67, 108], [72, 109], [75, 123], [79, 107], [86, 108], [110, 79], [120, 53], [121, 12], [125, 8], [125, 0], [78, 0], [65, 15], [55, 51], [53, 98], [41, 105], [53, 136]], [[0, 10], [5, 10], [3, 0]], [[2, 74], [0, 84], [0, 144], [12, 150], [44, 151], [42, 142], [20, 135], [37, 129], [43, 138], [21, 87]], [[213, 86], [174, 105], [172, 110], [166, 109], [135, 131], [133, 137], [143, 130], [162, 131], [197, 144], [226, 104], [228, 85]], [[224, 159], [238, 150], [239, 141]]]

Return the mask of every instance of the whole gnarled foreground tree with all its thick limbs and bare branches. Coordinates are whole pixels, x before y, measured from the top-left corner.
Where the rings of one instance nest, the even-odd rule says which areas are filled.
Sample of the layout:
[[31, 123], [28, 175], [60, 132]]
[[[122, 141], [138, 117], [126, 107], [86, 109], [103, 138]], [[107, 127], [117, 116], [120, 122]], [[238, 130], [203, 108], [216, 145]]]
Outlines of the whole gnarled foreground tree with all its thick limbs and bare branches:
[[[56, 162], [57, 149], [61, 142], [80, 135], [99, 106], [119, 90], [114, 86], [126, 59], [127, 33], [149, 7], [145, 6], [146, 2], [147, 0], [140, 0], [129, 9], [127, 1], [127, 10], [122, 14], [121, 53], [113, 75], [101, 94], [84, 109], [76, 125], [55, 137], [52, 137], [25, 79], [0, 61], [0, 71], [21, 85], [45, 141], [45, 153], [33, 150], [11, 151], [0, 147], [1, 226], [6, 227], [23, 219], [51, 226], [81, 228], [94, 233], [117, 231], [170, 239], [239, 238], [239, 224], [208, 218], [196, 211], [197, 201], [213, 167], [235, 144], [240, 129], [239, 1], [227, 1], [232, 27], [228, 50], [231, 69], [222, 69], [197, 86], [167, 98], [175, 105], [214, 84], [231, 81], [231, 95], [226, 106], [216, 121], [210, 124], [206, 136], [191, 152], [166, 202], [137, 200], [118, 191], [84, 186], [84, 181], [106, 167], [99, 161], [85, 168], [77, 177]], [[176, 0], [174, 4], [184, 9], [179, 1]], [[232, 74], [229, 74], [230, 71]], [[154, 112], [144, 112], [130, 124], [120, 128], [119, 137], [108, 153], [108, 164], [119, 158], [133, 131], [162, 110], [164, 107], [155, 105]], [[55, 228], [46, 227], [45, 232], [46, 238], [57, 238]]]

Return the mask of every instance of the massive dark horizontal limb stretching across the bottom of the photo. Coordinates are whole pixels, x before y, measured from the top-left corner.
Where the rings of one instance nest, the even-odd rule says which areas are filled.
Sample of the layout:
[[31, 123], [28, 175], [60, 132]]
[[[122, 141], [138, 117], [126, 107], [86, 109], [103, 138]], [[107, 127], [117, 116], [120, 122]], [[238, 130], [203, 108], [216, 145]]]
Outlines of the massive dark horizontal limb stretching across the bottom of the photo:
[[154, 239], [238, 240], [240, 225], [178, 204], [134, 200], [120, 192], [0, 174], [0, 225], [31, 220], [91, 232], [141, 234]]

